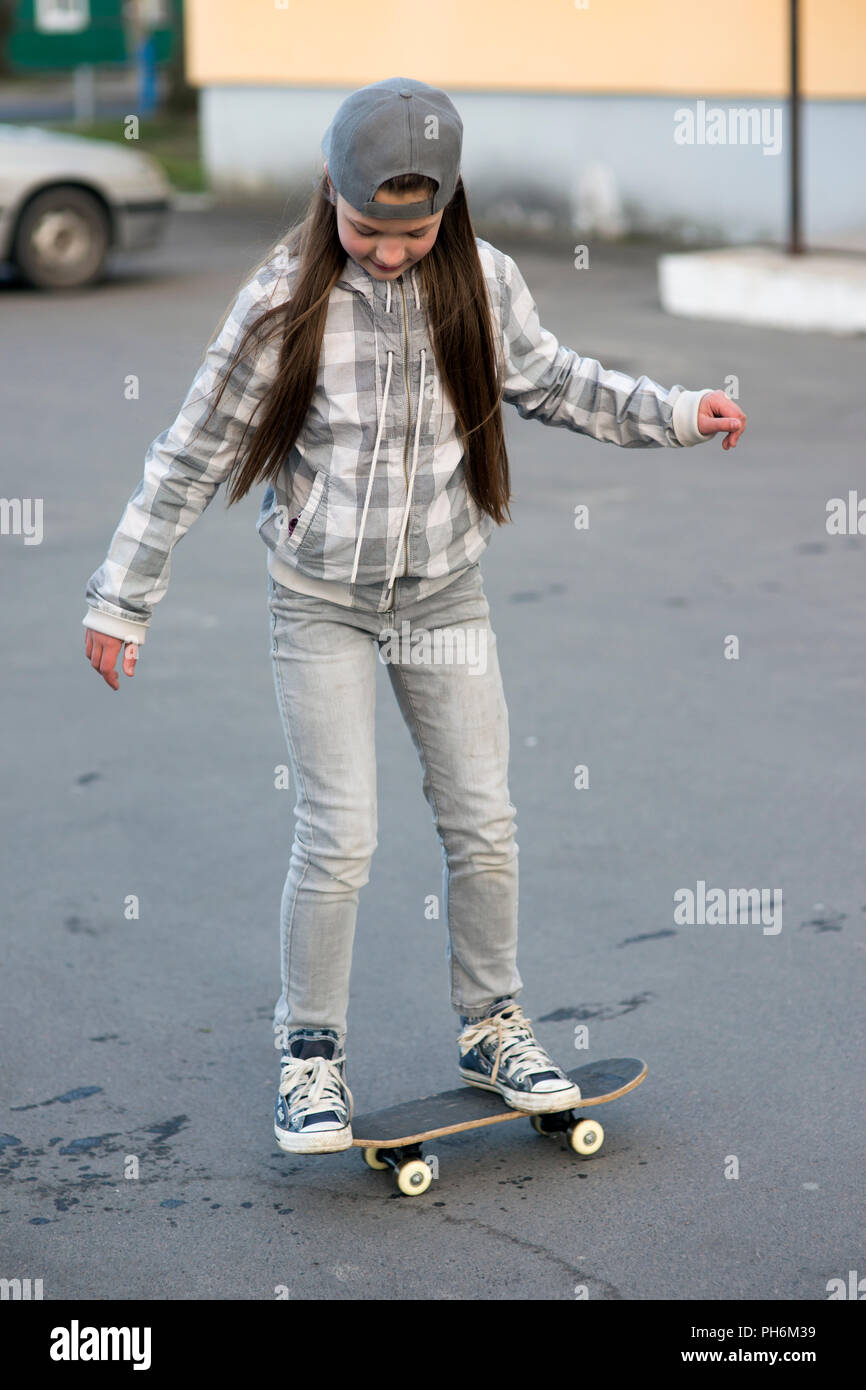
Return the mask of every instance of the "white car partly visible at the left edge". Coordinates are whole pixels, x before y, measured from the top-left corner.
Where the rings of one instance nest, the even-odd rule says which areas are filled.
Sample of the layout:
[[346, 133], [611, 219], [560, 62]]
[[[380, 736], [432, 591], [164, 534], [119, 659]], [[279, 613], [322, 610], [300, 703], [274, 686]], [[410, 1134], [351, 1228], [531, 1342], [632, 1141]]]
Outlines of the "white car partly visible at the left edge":
[[154, 246], [171, 206], [150, 154], [0, 122], [0, 260], [33, 285], [93, 284], [111, 250]]

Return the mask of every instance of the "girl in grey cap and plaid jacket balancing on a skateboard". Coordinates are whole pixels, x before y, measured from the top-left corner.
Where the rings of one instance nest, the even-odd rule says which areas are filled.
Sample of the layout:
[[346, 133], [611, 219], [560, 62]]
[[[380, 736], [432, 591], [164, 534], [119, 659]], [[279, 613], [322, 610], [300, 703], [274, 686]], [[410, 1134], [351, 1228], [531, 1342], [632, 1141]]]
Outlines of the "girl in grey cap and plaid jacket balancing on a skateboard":
[[238, 295], [86, 589], [86, 656], [117, 689], [177, 541], [221, 482], [229, 505], [268, 482], [257, 530], [296, 790], [274, 1015], [289, 1152], [352, 1143], [348, 987], [385, 651], [442, 844], [460, 1076], [531, 1113], [580, 1099], [517, 1004], [509, 724], [480, 573], [510, 518], [502, 400], [624, 448], [716, 431], [728, 448], [745, 427], [721, 391], [606, 371], [541, 327], [514, 261], [473, 232], [461, 135], [449, 97], [407, 78], [342, 103], [306, 217]]

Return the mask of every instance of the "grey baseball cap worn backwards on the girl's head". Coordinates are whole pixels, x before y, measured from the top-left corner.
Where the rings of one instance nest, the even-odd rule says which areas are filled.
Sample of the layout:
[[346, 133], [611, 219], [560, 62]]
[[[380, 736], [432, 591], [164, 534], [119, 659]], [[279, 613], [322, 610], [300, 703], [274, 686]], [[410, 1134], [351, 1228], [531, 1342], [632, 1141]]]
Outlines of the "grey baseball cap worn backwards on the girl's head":
[[[460, 172], [463, 121], [445, 92], [413, 78], [385, 78], [352, 92], [321, 142], [328, 174], [350, 207], [370, 217], [428, 217], [450, 202]], [[374, 203], [398, 174], [436, 181], [421, 203]]]

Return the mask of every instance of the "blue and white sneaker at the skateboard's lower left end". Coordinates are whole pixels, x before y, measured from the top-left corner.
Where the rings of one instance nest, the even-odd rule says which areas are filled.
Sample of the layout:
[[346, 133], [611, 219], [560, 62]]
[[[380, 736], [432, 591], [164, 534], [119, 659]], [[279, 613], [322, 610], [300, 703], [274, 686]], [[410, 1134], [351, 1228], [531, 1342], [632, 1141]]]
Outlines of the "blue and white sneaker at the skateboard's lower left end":
[[289, 1029], [279, 1058], [274, 1137], [286, 1154], [352, 1148], [352, 1091], [334, 1029]]

